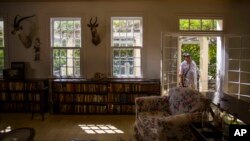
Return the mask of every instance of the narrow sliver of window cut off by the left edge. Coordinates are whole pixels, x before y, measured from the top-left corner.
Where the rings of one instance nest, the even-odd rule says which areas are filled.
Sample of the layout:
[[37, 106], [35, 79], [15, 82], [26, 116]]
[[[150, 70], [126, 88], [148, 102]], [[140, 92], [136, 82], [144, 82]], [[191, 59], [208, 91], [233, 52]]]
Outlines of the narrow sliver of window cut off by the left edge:
[[4, 69], [4, 20], [0, 17], [0, 76], [3, 76]]

